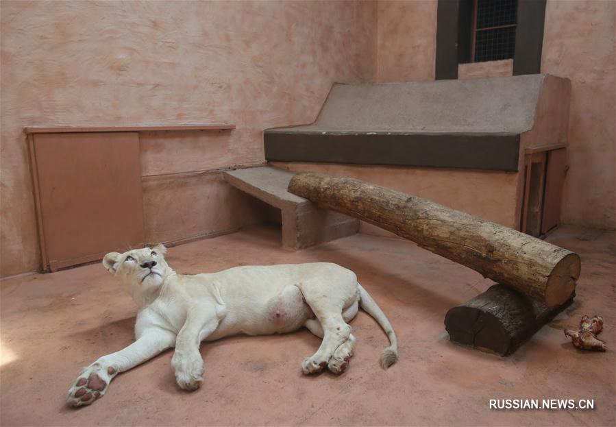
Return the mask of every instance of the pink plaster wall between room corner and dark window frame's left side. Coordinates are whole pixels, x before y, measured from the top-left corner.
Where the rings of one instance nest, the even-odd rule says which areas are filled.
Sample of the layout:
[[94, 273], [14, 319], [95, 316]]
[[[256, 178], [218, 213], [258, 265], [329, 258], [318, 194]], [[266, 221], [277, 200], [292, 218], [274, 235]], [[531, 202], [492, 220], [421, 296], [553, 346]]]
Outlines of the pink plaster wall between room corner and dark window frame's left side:
[[437, 4], [378, 1], [377, 82], [434, 80]]

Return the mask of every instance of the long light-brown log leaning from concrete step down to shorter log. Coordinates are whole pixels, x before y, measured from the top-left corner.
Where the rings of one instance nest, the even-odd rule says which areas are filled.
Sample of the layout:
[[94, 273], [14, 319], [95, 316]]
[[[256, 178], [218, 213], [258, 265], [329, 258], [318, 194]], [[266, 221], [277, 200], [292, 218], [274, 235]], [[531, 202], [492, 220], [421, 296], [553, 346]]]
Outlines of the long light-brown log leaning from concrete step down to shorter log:
[[573, 252], [421, 197], [323, 173], [298, 173], [288, 191], [412, 240], [546, 306], [569, 300], [580, 276]]

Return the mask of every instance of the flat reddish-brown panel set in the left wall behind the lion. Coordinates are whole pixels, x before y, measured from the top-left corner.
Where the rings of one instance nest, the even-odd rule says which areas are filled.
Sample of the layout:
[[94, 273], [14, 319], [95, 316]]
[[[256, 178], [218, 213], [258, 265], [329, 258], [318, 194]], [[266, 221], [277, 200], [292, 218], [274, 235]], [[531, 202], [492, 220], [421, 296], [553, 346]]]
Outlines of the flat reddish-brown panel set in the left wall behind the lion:
[[35, 134], [32, 150], [44, 267], [143, 244], [136, 132]]

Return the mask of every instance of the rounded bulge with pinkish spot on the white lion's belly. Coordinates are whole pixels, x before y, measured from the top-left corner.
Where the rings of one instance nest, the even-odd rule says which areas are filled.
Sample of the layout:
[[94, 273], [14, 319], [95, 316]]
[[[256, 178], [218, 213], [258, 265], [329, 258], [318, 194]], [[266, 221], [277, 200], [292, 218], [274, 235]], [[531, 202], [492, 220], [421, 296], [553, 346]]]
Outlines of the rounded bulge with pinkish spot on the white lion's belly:
[[306, 320], [315, 317], [306, 304], [304, 295], [293, 284], [284, 286], [282, 292], [266, 304], [264, 313], [267, 316], [267, 324], [272, 328], [271, 332], [291, 332], [297, 330], [306, 323]]

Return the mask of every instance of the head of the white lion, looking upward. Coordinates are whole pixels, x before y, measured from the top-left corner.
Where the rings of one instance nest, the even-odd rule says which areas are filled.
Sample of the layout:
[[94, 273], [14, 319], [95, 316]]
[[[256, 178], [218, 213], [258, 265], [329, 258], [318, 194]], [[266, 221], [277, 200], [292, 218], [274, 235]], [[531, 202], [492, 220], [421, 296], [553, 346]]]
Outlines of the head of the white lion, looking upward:
[[132, 287], [158, 287], [172, 271], [164, 260], [166, 252], [167, 248], [162, 243], [123, 254], [110, 252], [103, 258], [103, 265], [121, 282]]

